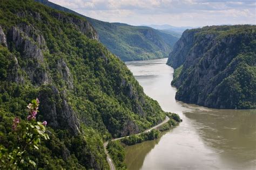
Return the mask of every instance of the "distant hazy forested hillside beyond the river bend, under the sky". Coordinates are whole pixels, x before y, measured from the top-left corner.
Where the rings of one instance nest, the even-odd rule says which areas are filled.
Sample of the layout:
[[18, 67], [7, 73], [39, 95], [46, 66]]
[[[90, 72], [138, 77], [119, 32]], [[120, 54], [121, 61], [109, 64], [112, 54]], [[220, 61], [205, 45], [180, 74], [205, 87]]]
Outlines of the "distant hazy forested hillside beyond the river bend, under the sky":
[[[85, 17], [47, 0], [36, 0], [51, 8]], [[95, 27], [99, 40], [123, 61], [165, 58], [178, 41], [177, 36], [151, 27], [108, 23], [85, 17]]]

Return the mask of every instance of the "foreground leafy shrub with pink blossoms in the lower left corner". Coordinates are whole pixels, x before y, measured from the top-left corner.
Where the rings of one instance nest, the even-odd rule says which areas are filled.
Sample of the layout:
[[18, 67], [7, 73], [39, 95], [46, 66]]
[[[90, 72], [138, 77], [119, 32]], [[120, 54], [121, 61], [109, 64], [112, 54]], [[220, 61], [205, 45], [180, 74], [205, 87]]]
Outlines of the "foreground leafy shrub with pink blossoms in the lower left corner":
[[6, 140], [3, 133], [0, 134], [0, 168], [24, 169], [37, 166], [36, 162], [30, 158], [30, 154], [34, 150], [39, 150], [41, 139], [50, 139], [46, 133], [46, 123], [36, 122], [35, 118], [31, 118], [37, 114], [38, 106], [36, 100], [32, 100], [29, 104], [28, 107], [31, 110], [28, 116], [29, 121], [21, 122], [18, 117], [14, 119], [12, 131], [8, 133], [11, 141]]

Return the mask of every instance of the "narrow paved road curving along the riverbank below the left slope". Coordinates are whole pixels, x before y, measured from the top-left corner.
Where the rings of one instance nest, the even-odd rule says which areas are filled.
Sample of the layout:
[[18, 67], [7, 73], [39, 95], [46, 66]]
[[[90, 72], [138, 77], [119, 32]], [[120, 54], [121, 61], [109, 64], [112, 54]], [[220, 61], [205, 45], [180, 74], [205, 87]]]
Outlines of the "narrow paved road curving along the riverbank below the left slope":
[[[159, 126], [165, 124], [165, 123], [168, 122], [169, 120], [170, 120], [170, 118], [169, 118], [168, 116], [166, 116], [166, 118], [165, 118], [165, 120], [164, 120], [163, 122], [159, 123], [159, 124], [156, 125], [156, 126], [153, 126], [153, 127], [150, 128], [150, 129], [145, 130], [144, 132], [140, 132], [140, 133], [137, 133], [137, 134], [141, 134], [141, 133], [145, 133], [145, 132], [150, 132], [150, 131], [153, 130], [153, 129], [157, 129]], [[120, 139], [123, 139], [123, 138], [126, 138], [126, 137], [130, 137], [130, 136], [124, 136], [124, 137], [121, 137], [121, 138], [112, 139], [112, 141], [120, 140]], [[108, 141], [106, 141], [106, 142], [104, 143], [104, 151], [105, 151], [105, 153], [106, 153], [106, 155], [107, 155], [107, 163], [109, 163], [110, 170], [116, 170], [116, 167], [114, 167], [114, 163], [113, 163], [112, 159], [110, 158], [109, 153], [107, 152], [107, 149], [106, 149], [107, 144], [109, 144]]]

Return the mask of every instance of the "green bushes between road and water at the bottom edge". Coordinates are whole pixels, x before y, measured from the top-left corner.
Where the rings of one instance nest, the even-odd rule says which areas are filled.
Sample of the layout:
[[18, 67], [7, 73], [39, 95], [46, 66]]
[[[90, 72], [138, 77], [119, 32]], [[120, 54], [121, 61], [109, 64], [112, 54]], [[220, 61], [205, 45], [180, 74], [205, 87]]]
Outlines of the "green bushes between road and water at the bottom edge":
[[107, 145], [107, 151], [109, 152], [111, 159], [114, 161], [114, 165], [117, 169], [126, 169], [124, 164], [124, 146], [122, 146], [120, 141], [109, 141], [109, 144]]

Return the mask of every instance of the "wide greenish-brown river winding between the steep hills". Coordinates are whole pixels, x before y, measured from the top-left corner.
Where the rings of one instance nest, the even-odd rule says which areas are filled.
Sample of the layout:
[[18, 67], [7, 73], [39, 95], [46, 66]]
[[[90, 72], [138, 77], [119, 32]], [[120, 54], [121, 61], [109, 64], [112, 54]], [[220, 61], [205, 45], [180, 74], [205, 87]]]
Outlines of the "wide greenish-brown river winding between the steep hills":
[[125, 148], [129, 169], [256, 169], [256, 110], [221, 110], [175, 100], [166, 59], [126, 62], [164, 111], [183, 122], [160, 139]]

